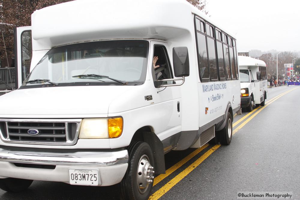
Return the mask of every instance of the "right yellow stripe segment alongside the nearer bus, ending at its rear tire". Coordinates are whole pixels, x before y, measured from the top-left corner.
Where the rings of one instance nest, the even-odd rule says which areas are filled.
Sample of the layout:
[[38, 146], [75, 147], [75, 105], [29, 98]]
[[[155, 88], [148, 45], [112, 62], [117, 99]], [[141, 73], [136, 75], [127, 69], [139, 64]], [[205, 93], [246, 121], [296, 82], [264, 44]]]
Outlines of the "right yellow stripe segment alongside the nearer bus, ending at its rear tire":
[[198, 165], [200, 165], [210, 154], [216, 151], [221, 145], [214, 145], [208, 151], [205, 152], [201, 157], [199, 157], [195, 162], [193, 162], [190, 166], [180, 172], [176, 177], [174, 177], [171, 181], [157, 190], [154, 194], [152, 194], [149, 199], [155, 200], [161, 198], [166, 192], [168, 192], [173, 186], [175, 186], [179, 181], [181, 181], [186, 175], [192, 172]]

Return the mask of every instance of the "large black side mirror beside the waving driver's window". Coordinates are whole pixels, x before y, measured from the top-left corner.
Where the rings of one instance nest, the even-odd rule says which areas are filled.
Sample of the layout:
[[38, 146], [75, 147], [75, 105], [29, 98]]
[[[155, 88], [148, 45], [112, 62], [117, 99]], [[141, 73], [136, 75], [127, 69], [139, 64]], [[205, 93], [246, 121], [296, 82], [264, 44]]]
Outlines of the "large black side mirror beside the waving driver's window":
[[173, 67], [176, 77], [190, 75], [190, 63], [186, 46], [173, 48]]

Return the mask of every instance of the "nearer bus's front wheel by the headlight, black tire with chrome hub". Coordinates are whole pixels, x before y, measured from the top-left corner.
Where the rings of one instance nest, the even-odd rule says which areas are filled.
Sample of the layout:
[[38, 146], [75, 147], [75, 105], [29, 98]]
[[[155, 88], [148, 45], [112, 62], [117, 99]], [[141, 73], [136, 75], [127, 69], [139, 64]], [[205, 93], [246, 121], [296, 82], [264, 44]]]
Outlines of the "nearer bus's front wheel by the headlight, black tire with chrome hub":
[[[128, 169], [120, 183], [121, 199], [148, 199], [154, 178], [154, 171], [152, 171], [154, 169], [152, 150], [146, 142], [134, 142], [129, 145], [128, 154]], [[144, 169], [148, 169], [150, 172]], [[143, 172], [146, 172], [146, 174], [143, 174]], [[150, 178], [143, 178], [146, 175], [150, 176]], [[147, 182], [148, 179], [151, 179], [150, 183]]]

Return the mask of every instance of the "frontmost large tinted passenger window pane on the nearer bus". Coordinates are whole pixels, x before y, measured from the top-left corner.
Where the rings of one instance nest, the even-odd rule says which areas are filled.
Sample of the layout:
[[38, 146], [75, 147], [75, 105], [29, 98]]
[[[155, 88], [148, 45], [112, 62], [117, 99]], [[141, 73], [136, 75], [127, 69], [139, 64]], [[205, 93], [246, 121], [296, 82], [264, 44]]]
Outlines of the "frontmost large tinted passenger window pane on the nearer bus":
[[209, 81], [208, 60], [205, 35], [197, 33], [199, 76], [201, 81]]

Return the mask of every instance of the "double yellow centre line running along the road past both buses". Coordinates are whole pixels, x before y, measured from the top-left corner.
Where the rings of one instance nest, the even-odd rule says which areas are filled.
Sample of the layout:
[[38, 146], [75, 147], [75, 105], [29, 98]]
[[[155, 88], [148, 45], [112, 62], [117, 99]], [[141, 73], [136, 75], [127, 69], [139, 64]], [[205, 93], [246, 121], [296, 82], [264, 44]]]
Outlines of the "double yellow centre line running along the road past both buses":
[[[262, 109], [265, 109], [268, 105], [273, 103], [275, 100], [277, 100], [278, 98], [282, 97], [283, 95], [285, 95], [295, 89], [297, 89], [297, 88], [290, 89], [290, 90], [272, 98], [271, 100], [268, 100], [265, 106], [263, 106], [263, 107], [258, 106], [256, 109], [253, 109], [253, 111], [249, 112], [247, 115], [245, 115], [244, 117], [242, 117], [241, 119], [236, 121], [234, 124], [232, 124], [232, 128], [235, 127], [236, 125], [238, 125], [239, 123], [241, 123], [244, 119], [246, 119], [247, 117], [249, 117], [250, 115], [252, 115], [255, 112], [251, 117], [249, 117], [246, 121], [244, 121], [242, 124], [240, 124], [235, 130], [233, 130], [232, 135], [234, 135], [245, 124], [247, 124], [251, 119], [253, 119], [259, 112], [262, 111]], [[167, 193], [173, 186], [175, 186], [185, 176], [187, 176], [190, 172], [192, 172], [197, 166], [199, 166], [208, 156], [210, 156], [220, 146], [221, 145], [219, 145], [219, 144], [214, 145], [212, 148], [210, 148], [208, 151], [206, 151], [202, 156], [200, 156], [196, 161], [194, 161], [190, 166], [188, 166], [186, 169], [184, 169], [182, 172], [180, 172], [178, 175], [176, 175], [173, 179], [171, 179], [167, 184], [165, 184], [163, 187], [161, 187], [159, 190], [157, 190], [155, 193], [153, 193], [149, 197], [149, 199], [156, 200], [156, 199], [161, 198], [161, 196], [163, 196], [165, 193]], [[194, 156], [199, 154], [206, 147], [208, 147], [208, 144], [202, 146], [201, 148], [196, 149], [195, 151], [190, 153], [187, 157], [185, 157], [184, 159], [182, 159], [181, 161], [179, 161], [178, 163], [173, 165], [171, 168], [167, 169], [166, 174], [161, 174], [161, 175], [158, 175], [157, 177], [155, 177], [153, 186], [155, 186], [160, 181], [162, 181], [164, 178], [166, 178], [167, 176], [172, 174], [174, 171], [179, 169], [181, 166], [183, 166], [185, 163], [187, 163], [187, 161], [189, 161], [191, 158], [193, 158]]]

